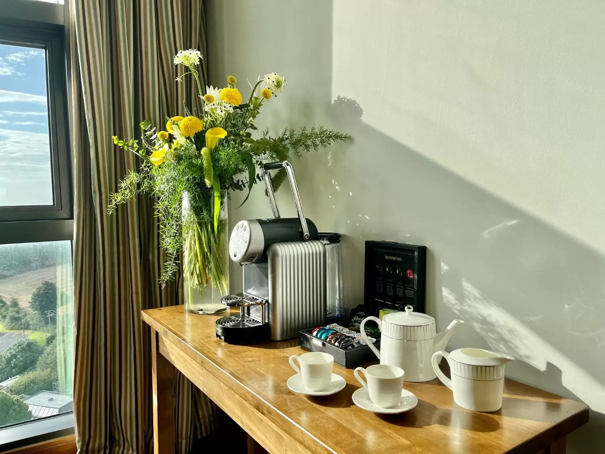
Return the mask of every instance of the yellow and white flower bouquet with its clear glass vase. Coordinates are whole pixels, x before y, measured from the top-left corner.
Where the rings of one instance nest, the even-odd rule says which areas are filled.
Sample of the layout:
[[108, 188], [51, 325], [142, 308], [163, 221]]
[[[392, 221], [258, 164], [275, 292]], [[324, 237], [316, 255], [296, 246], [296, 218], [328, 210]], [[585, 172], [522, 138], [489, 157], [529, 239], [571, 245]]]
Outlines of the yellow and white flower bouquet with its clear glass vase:
[[[111, 194], [108, 212], [139, 194], [156, 197], [160, 242], [166, 252], [160, 283], [166, 284], [177, 271], [183, 250], [185, 303], [190, 312], [207, 313], [228, 293], [227, 209], [229, 191], [247, 191], [262, 177], [257, 168], [265, 162], [300, 157], [302, 151], [325, 148], [333, 142], [350, 140], [348, 134], [324, 127], [286, 128], [271, 137], [266, 129], [258, 137], [255, 120], [261, 107], [277, 97], [286, 86], [281, 74], [269, 73], [252, 87], [244, 102], [237, 79], [227, 77], [225, 88], [202, 90], [195, 69], [202, 58], [197, 50], [181, 50], [175, 65], [183, 65], [197, 82], [199, 100], [185, 116], [166, 118], [165, 130], [156, 131], [148, 120], [140, 123], [140, 140], [119, 139], [114, 143], [137, 154], [142, 163], [129, 171]], [[286, 178], [282, 169], [272, 177], [275, 190]], [[243, 204], [243, 203], [242, 203]]]

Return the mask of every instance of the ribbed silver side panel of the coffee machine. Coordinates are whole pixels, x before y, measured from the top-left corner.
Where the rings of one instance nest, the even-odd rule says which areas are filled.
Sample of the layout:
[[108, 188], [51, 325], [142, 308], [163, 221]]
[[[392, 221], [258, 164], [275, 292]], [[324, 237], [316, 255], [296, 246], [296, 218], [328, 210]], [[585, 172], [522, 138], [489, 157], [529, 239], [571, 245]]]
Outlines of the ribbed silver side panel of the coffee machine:
[[324, 245], [319, 241], [274, 243], [267, 249], [267, 259], [271, 339], [289, 339], [301, 329], [324, 324]]

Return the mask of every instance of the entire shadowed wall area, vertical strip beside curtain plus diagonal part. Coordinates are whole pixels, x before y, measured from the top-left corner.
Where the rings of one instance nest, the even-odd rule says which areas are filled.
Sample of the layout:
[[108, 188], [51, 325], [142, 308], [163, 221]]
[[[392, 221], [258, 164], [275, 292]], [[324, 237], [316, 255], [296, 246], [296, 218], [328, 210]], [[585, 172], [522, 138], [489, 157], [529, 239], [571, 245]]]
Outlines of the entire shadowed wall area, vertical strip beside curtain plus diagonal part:
[[[332, 80], [332, 2], [207, 3], [212, 83], [225, 74], [286, 75], [288, 87], [259, 117], [260, 130], [267, 121], [272, 131], [325, 123], [355, 138], [293, 160], [307, 217], [345, 235], [347, 306], [362, 302], [365, 240], [427, 245], [427, 312], [438, 329], [466, 321], [448, 349], [501, 350], [519, 358], [507, 365], [509, 377], [585, 401], [590, 423], [569, 437], [568, 451], [605, 452], [605, 258], [370, 127], [355, 100], [333, 99], [343, 81]], [[258, 27], [269, 12], [279, 20]], [[347, 82], [373, 83], [355, 79], [361, 55], [339, 61]], [[232, 225], [270, 216], [258, 189], [230, 212]], [[293, 216], [289, 191], [276, 196], [284, 216]], [[244, 195], [233, 197], [237, 206]], [[231, 272], [237, 291], [241, 271]]]

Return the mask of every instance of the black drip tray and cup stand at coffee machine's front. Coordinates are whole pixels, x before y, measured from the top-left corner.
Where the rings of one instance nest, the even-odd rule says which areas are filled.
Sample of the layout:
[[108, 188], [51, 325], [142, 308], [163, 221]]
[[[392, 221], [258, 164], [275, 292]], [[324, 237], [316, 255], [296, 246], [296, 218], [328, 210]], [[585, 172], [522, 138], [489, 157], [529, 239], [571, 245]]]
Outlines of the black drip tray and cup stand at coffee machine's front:
[[[221, 298], [221, 303], [231, 308], [240, 308], [240, 313], [217, 320], [217, 337], [230, 344], [254, 344], [270, 339], [269, 323], [265, 317], [267, 300], [247, 293], [238, 293]], [[260, 306], [259, 318], [250, 314], [253, 306]]]

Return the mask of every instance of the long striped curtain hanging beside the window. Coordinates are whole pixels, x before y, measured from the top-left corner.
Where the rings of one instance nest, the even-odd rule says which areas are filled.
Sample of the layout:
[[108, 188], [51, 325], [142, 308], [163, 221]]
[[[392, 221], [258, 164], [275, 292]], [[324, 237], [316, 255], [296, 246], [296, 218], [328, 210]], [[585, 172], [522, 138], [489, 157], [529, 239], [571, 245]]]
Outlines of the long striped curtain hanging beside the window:
[[[106, 214], [134, 155], [111, 136], [140, 136], [196, 102], [176, 82], [181, 48], [205, 54], [202, 0], [72, 0], [74, 417], [79, 453], [152, 450], [151, 351], [140, 311], [179, 304], [180, 276], [160, 288], [163, 255], [153, 201], [140, 197]], [[200, 73], [206, 81], [205, 62]], [[180, 285], [178, 285], [180, 284]], [[215, 409], [182, 375], [174, 378], [177, 446], [186, 453], [214, 429]]]

